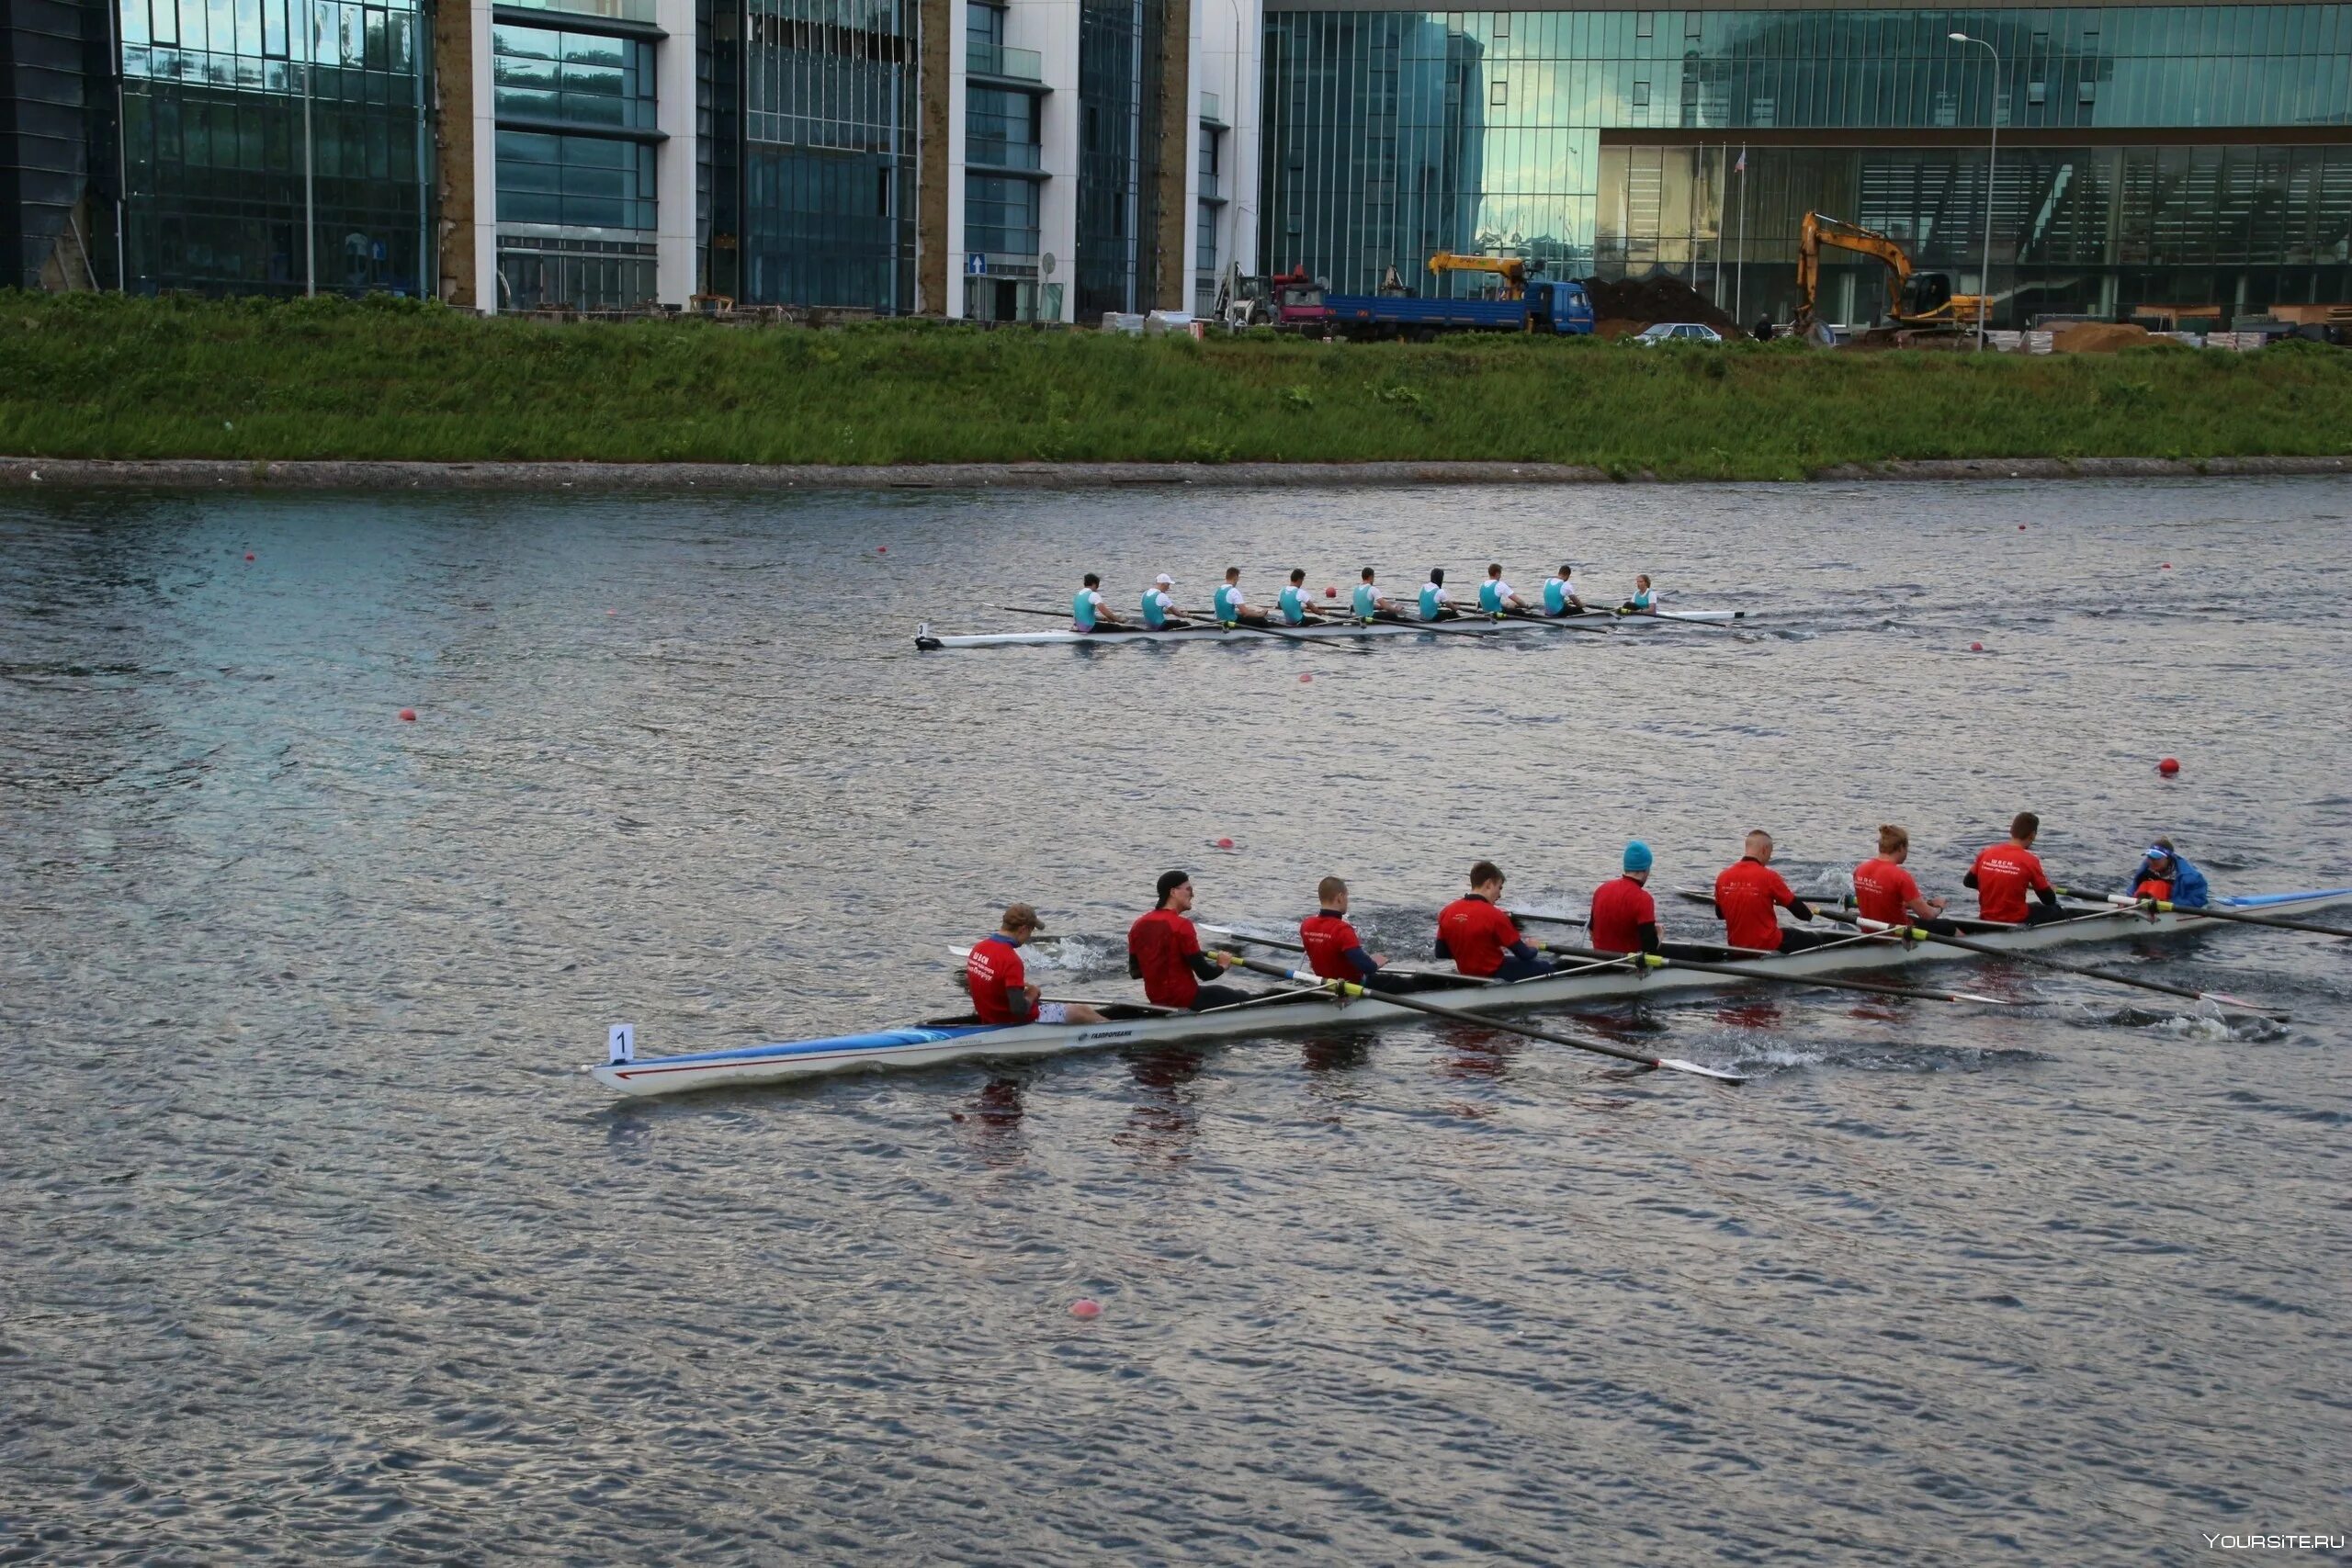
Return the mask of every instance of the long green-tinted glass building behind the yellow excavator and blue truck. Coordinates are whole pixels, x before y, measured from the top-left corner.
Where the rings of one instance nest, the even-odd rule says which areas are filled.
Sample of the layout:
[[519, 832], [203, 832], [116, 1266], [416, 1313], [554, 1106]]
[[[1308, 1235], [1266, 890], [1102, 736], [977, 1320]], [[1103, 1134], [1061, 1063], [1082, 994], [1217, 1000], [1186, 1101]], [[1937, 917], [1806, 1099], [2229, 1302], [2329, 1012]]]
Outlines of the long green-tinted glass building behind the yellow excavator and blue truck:
[[1270, 12], [1265, 118], [1265, 256], [1341, 289], [1444, 237], [1785, 320], [1804, 212], [1976, 289], [1990, 205], [2011, 320], [2352, 299], [2345, 5]]

